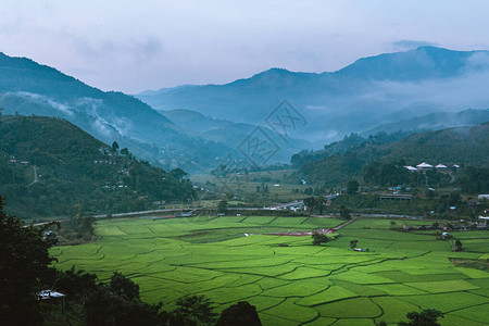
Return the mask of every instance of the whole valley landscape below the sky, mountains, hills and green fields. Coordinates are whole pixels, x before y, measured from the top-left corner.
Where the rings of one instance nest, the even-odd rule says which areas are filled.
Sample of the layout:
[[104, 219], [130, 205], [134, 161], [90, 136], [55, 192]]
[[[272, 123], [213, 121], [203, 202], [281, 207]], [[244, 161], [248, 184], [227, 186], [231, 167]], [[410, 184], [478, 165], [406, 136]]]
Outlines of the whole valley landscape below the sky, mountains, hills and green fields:
[[0, 324], [487, 325], [487, 62], [128, 95], [0, 52]]

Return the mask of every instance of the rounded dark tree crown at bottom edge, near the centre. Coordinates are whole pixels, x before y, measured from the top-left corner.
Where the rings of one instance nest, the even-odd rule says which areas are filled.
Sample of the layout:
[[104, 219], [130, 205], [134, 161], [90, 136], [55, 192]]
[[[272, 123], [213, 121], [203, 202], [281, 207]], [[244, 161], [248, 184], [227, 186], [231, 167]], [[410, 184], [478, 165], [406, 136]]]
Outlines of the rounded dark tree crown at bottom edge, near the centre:
[[262, 322], [254, 305], [240, 301], [223, 311], [216, 326], [262, 326]]

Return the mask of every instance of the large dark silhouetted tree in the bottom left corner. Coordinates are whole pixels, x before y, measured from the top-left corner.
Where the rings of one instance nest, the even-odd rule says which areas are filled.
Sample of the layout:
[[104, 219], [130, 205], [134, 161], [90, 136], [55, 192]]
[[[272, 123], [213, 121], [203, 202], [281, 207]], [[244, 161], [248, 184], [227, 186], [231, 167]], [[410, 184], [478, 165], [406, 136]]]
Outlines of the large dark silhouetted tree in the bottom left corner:
[[0, 197], [0, 324], [42, 324], [37, 293], [49, 275], [49, 243], [30, 226], [3, 212]]

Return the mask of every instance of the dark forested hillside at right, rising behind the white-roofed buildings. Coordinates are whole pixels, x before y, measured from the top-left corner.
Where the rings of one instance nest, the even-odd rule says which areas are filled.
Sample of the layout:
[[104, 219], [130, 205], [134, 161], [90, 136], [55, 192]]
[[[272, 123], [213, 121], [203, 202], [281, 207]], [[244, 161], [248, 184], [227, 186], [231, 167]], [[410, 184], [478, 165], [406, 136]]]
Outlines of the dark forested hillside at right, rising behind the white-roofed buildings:
[[362, 141], [352, 135], [325, 150], [296, 154], [292, 164], [299, 168], [297, 178], [326, 186], [344, 185], [348, 179], [363, 178], [372, 162], [396, 162], [401, 168], [422, 162], [489, 167], [489, 123], [418, 133], [391, 141], [396, 138], [379, 134]]

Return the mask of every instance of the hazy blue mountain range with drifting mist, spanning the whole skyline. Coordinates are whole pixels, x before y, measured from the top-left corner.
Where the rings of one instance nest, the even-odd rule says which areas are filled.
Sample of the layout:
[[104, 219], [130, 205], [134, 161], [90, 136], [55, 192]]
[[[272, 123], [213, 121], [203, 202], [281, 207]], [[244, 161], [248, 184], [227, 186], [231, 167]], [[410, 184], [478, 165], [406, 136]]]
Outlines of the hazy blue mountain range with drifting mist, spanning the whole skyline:
[[[225, 85], [134, 97], [0, 53], [0, 106], [4, 114], [62, 117], [153, 164], [196, 172], [228, 156], [244, 162], [243, 141], [256, 134], [274, 146], [266, 161], [274, 163], [352, 131], [367, 136], [481, 123], [488, 120], [488, 51], [421, 47], [360, 59], [333, 73], [272, 68]], [[296, 116], [285, 122], [284, 112]], [[293, 118], [298, 125], [288, 128]]]

